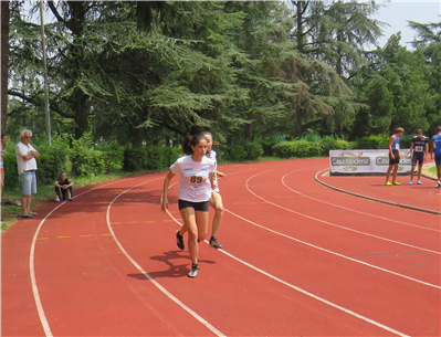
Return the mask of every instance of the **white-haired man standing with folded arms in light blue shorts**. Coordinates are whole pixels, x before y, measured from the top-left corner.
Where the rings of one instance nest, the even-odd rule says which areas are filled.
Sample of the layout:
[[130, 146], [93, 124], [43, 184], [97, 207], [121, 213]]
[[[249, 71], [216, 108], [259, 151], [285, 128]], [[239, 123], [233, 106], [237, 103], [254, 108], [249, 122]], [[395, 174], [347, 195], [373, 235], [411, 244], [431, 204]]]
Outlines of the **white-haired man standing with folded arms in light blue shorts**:
[[20, 133], [21, 141], [15, 145], [17, 167], [21, 185], [22, 218], [36, 215], [31, 211], [32, 196], [36, 193], [36, 160], [40, 152], [31, 145], [32, 131], [24, 129]]

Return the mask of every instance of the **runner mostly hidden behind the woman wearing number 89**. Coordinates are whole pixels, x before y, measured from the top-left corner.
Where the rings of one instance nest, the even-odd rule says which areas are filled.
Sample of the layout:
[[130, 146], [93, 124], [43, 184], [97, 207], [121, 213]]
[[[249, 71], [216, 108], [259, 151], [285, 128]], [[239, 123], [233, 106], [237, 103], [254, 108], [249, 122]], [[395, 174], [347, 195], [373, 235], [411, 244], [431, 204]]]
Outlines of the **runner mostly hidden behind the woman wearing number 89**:
[[203, 131], [203, 136], [208, 139], [208, 154], [207, 156], [210, 156], [211, 159], [214, 160], [216, 162], [216, 170], [214, 170], [214, 189], [211, 194], [210, 199], [210, 206], [214, 209], [214, 218], [213, 218], [213, 223], [211, 227], [211, 238], [210, 238], [210, 246], [216, 248], [216, 249], [221, 249], [222, 245], [218, 242], [217, 236], [219, 233], [220, 225], [222, 223], [222, 217], [223, 217], [223, 203], [222, 203], [222, 197], [220, 194], [219, 190], [219, 185], [218, 185], [218, 177], [224, 178], [225, 175], [222, 172], [218, 171], [218, 161], [216, 159], [216, 151], [212, 149], [213, 146], [213, 136], [209, 131]]

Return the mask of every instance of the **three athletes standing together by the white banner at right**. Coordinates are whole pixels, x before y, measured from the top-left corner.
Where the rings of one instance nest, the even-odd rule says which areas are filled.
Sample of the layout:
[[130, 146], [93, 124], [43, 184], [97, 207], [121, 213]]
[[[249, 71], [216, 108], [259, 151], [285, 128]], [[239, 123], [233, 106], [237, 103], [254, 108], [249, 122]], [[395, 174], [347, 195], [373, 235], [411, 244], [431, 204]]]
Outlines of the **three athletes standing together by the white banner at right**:
[[[389, 138], [389, 168], [386, 172], [386, 185], [401, 185], [397, 181], [398, 166], [400, 164], [400, 137], [405, 134], [405, 129], [399, 127], [396, 130], [396, 134], [390, 136]], [[412, 138], [412, 143], [410, 145], [410, 158], [412, 160], [412, 168], [410, 169], [410, 181], [409, 185], [413, 183], [414, 169], [418, 165], [418, 185], [421, 185], [421, 172], [422, 165], [430, 152], [431, 159], [433, 159], [434, 154], [434, 164], [437, 166], [437, 188], [441, 187], [441, 126], [437, 127], [435, 135], [432, 137], [432, 141], [430, 143], [430, 151], [429, 151], [429, 138], [422, 135], [422, 130], [418, 129], [416, 131], [417, 136]], [[392, 172], [392, 182], [389, 181], [390, 172]]]

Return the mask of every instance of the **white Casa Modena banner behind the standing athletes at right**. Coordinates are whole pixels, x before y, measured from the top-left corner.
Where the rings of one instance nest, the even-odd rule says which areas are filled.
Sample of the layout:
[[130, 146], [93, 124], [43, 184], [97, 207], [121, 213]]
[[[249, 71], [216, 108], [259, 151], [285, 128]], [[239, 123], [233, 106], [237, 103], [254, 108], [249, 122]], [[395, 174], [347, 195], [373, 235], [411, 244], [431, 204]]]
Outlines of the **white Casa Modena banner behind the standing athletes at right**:
[[[389, 167], [389, 150], [330, 150], [332, 172], [386, 173]], [[409, 149], [400, 149], [399, 173], [409, 173], [412, 167]]]

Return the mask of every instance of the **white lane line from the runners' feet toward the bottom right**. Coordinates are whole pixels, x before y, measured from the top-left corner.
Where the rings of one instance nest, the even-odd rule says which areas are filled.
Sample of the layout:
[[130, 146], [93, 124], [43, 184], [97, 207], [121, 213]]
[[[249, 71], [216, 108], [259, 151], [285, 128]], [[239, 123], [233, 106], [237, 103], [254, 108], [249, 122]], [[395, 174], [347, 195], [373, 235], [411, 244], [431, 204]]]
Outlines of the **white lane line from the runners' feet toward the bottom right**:
[[[231, 212], [230, 212], [230, 213], [231, 213]], [[168, 212], [168, 214], [169, 214], [169, 217], [172, 218], [179, 225], [181, 225], [181, 223], [179, 223], [179, 221], [177, 221], [177, 219], [176, 219], [174, 215], [171, 215], [170, 212]], [[238, 215], [238, 217], [239, 217], [239, 215]], [[241, 218], [241, 217], [239, 217], [239, 218]], [[242, 219], [243, 219], [243, 218], [242, 218]], [[245, 220], [245, 219], [244, 219], [244, 220]], [[245, 220], [245, 221], [246, 221], [246, 220]], [[249, 221], [249, 222], [250, 222], [250, 221]], [[208, 242], [207, 240], [204, 240], [203, 242], [206, 242], [207, 244], [209, 244], [209, 242]], [[369, 324], [371, 324], [371, 325], [375, 325], [376, 327], [379, 327], [379, 328], [381, 328], [381, 329], [384, 329], [384, 330], [387, 330], [387, 331], [389, 331], [389, 333], [392, 333], [392, 334], [395, 334], [395, 335], [402, 336], [402, 337], [409, 337], [409, 335], [406, 335], [405, 333], [398, 331], [398, 330], [396, 330], [396, 329], [393, 329], [393, 328], [391, 328], [391, 327], [388, 327], [388, 326], [386, 326], [386, 325], [384, 325], [384, 324], [381, 324], [381, 323], [378, 323], [378, 322], [376, 322], [376, 320], [374, 320], [374, 319], [370, 319], [370, 318], [368, 318], [368, 317], [366, 317], [366, 316], [363, 316], [363, 315], [360, 315], [360, 314], [357, 314], [357, 313], [355, 313], [355, 312], [353, 312], [353, 310], [350, 310], [350, 309], [347, 309], [347, 308], [345, 308], [345, 307], [343, 307], [343, 306], [340, 306], [340, 305], [338, 305], [338, 304], [335, 304], [335, 303], [333, 303], [333, 302], [330, 302], [330, 301], [327, 301], [327, 299], [325, 299], [325, 298], [323, 298], [323, 297], [319, 297], [319, 296], [317, 296], [317, 295], [314, 295], [313, 293], [309, 293], [309, 292], [307, 292], [307, 291], [305, 291], [305, 289], [303, 289], [303, 288], [301, 288], [301, 287], [298, 287], [298, 286], [295, 286], [295, 285], [293, 285], [293, 284], [291, 284], [291, 283], [288, 283], [288, 282], [286, 282], [286, 281], [283, 281], [282, 278], [279, 278], [279, 277], [276, 277], [276, 276], [274, 276], [274, 275], [272, 275], [272, 274], [270, 274], [270, 273], [267, 273], [267, 272], [265, 272], [265, 271], [263, 271], [263, 270], [261, 270], [261, 268], [259, 268], [259, 267], [252, 265], [251, 263], [248, 263], [246, 261], [243, 261], [243, 260], [237, 257], [235, 255], [233, 255], [233, 254], [231, 254], [231, 253], [228, 253], [228, 252], [227, 252], [225, 250], [223, 250], [223, 249], [222, 249], [222, 250], [218, 250], [218, 252], [221, 252], [221, 253], [225, 254], [227, 256], [229, 256], [229, 257], [231, 257], [231, 259], [238, 261], [239, 263], [241, 263], [241, 264], [243, 264], [243, 265], [245, 265], [245, 266], [248, 266], [248, 267], [250, 267], [250, 268], [256, 271], [258, 273], [261, 273], [261, 274], [263, 274], [263, 275], [265, 275], [265, 276], [267, 276], [267, 277], [270, 277], [270, 278], [272, 278], [272, 280], [274, 280], [274, 281], [276, 281], [276, 282], [279, 282], [279, 283], [284, 284], [284, 285], [288, 286], [288, 287], [292, 288], [292, 289], [295, 289], [295, 291], [297, 291], [297, 292], [300, 292], [300, 293], [302, 293], [302, 294], [304, 294], [304, 295], [306, 295], [306, 296], [309, 296], [309, 297], [312, 297], [312, 298], [314, 298], [314, 299], [316, 299], [316, 301], [319, 301], [321, 303], [324, 303], [324, 304], [326, 304], [326, 305], [329, 305], [329, 306], [332, 306], [333, 308], [336, 308], [336, 309], [338, 309], [338, 310], [340, 310], [340, 312], [344, 312], [344, 313], [346, 313], [346, 314], [348, 314], [348, 315], [350, 315], [350, 316], [357, 317], [357, 318], [359, 318], [359, 319], [361, 319], [361, 320], [364, 320], [364, 322], [367, 322], [367, 323], [369, 323]]]

